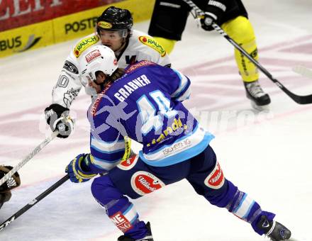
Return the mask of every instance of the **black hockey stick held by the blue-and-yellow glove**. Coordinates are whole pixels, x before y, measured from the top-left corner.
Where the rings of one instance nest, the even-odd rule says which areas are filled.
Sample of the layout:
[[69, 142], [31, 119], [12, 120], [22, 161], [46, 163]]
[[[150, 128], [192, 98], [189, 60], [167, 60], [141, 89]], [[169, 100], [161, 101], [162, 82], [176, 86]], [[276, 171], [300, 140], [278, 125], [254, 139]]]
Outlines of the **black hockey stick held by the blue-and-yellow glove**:
[[16, 220], [16, 218], [18, 218], [20, 215], [22, 215], [23, 213], [28, 211], [28, 209], [33, 207], [35, 205], [35, 203], [38, 203], [40, 200], [42, 200], [43, 198], [48, 196], [52, 191], [57, 189], [59, 186], [61, 186], [63, 183], [65, 183], [65, 181], [67, 181], [68, 179], [69, 179], [69, 175], [68, 174], [66, 176], [63, 176], [62, 179], [60, 179], [57, 182], [55, 182], [55, 184], [50, 186], [42, 194], [40, 194], [38, 197], [36, 197], [32, 201], [30, 201], [30, 203], [26, 204], [26, 206], [23, 206], [23, 208], [21, 208], [16, 213], [11, 215], [10, 218], [8, 218], [7, 220], [5, 220], [3, 223], [0, 224], [0, 231], [3, 230], [4, 228], [6, 228], [7, 226], [9, 226], [14, 220]]

